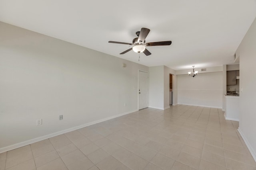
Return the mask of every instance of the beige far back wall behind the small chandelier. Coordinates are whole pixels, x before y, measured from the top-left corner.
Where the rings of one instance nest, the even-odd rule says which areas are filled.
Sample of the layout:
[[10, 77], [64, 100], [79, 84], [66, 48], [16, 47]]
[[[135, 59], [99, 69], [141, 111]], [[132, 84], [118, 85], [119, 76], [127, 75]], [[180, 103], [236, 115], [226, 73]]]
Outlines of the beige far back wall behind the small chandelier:
[[222, 108], [222, 72], [199, 73], [178, 77], [178, 104]]

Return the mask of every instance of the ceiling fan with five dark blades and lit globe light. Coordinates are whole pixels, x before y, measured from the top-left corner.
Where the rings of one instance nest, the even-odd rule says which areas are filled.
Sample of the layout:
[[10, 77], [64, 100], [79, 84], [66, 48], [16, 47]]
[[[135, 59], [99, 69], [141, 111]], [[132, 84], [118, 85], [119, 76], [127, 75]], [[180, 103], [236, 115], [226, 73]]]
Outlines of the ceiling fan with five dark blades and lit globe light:
[[150, 31], [150, 29], [148, 29], [148, 28], [141, 28], [140, 31], [136, 32], [136, 35], [138, 37], [134, 38], [132, 40], [132, 43], [122, 43], [122, 42], [117, 42], [117, 41], [108, 41], [108, 42], [116, 43], [116, 44], [127, 44], [127, 45], [134, 46], [120, 54], [125, 54], [128, 51], [133, 50], [135, 53], [143, 52], [146, 56], [151, 55], [151, 53], [146, 49], [147, 46], [159, 46], [159, 45], [171, 45], [172, 44], [172, 41], [159, 41], [159, 42], [146, 43], [145, 39], [148, 36], [149, 31]]

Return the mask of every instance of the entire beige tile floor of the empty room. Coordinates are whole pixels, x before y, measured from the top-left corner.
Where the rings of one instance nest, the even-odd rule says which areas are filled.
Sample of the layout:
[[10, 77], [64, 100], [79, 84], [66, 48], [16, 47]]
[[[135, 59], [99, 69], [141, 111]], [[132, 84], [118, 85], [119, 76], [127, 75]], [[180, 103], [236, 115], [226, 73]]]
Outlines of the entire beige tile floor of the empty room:
[[0, 170], [256, 170], [221, 109], [177, 105], [104, 121], [0, 154]]

